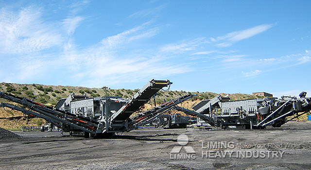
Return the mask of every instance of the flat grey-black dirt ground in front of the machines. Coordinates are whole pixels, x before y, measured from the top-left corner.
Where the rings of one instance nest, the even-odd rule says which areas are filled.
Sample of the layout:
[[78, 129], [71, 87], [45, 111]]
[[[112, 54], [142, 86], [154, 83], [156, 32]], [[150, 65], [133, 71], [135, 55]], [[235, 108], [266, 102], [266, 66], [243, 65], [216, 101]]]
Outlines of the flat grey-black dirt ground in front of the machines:
[[311, 169], [311, 121], [264, 130], [139, 129], [108, 139], [16, 134], [24, 138], [0, 140], [1, 170]]

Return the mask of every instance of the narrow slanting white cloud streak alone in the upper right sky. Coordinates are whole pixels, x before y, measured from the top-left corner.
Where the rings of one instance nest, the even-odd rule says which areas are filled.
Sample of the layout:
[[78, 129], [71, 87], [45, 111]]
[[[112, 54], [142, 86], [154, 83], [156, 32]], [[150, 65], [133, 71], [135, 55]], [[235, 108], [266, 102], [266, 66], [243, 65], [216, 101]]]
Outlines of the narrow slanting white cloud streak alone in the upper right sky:
[[231, 46], [234, 42], [238, 42], [238, 41], [241, 41], [243, 39], [255, 36], [259, 33], [262, 33], [264, 31], [270, 29], [271, 27], [273, 27], [273, 24], [258, 25], [256, 27], [249, 28], [246, 30], [231, 32], [231, 33], [225, 34], [224, 36], [218, 36], [217, 38], [211, 37], [210, 41], [211, 42], [221, 42], [221, 43], [217, 44], [218, 47], [228, 47], [228, 46]]

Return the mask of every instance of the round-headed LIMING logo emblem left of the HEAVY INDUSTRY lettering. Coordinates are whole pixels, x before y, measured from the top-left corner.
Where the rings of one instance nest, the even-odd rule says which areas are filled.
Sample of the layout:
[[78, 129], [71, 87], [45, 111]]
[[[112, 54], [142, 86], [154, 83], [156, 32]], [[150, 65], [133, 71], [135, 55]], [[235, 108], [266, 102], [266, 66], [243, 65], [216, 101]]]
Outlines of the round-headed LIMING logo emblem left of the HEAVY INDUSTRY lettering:
[[191, 146], [186, 146], [189, 143], [187, 135], [179, 135], [177, 137], [177, 143], [180, 146], [175, 146], [170, 154], [171, 159], [195, 159], [196, 154]]

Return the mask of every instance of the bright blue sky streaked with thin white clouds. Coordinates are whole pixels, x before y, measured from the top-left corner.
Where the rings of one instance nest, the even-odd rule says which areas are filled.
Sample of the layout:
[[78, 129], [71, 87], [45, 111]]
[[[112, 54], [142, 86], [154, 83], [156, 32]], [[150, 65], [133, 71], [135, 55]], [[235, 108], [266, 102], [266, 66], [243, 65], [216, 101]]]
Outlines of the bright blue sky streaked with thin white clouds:
[[0, 82], [311, 94], [310, 0], [0, 0]]

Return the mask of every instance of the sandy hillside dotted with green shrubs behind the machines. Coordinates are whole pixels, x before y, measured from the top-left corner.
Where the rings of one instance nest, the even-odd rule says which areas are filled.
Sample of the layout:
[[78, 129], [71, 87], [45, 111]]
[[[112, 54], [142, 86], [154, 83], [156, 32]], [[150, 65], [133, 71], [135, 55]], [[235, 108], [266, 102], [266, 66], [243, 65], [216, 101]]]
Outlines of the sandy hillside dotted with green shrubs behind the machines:
[[[76, 95], [83, 95], [86, 93], [88, 97], [100, 97], [100, 96], [121, 96], [122, 98], [132, 97], [139, 89], [103, 89], [103, 88], [87, 88], [87, 87], [75, 87], [75, 86], [54, 86], [54, 85], [37, 85], [37, 84], [9, 84], [0, 83], [0, 91], [12, 93], [20, 97], [26, 97], [28, 99], [33, 99], [35, 102], [40, 102], [47, 105], [55, 105], [59, 99], [66, 98], [70, 93]], [[202, 100], [212, 99], [218, 94], [212, 92], [186, 92], [186, 91], [163, 91], [160, 90], [155, 98], [157, 104], [163, 103], [164, 101], [169, 101], [171, 99], [176, 99], [180, 96], [186, 94], [194, 93], [196, 94], [190, 101], [183, 102], [182, 105], [185, 108], [191, 108], [198, 102]], [[242, 100], [242, 99], [254, 99], [262, 98], [262, 96], [254, 96], [249, 94], [225, 94], [229, 95], [231, 100]], [[4, 99], [0, 99], [0, 102], [8, 102]], [[10, 102], [11, 103], [11, 102]], [[153, 99], [147, 104], [145, 104], [144, 110], [151, 109], [153, 107]], [[14, 103], [13, 103], [14, 104]], [[45, 120], [38, 118], [27, 118], [21, 112], [15, 110], [4, 110], [0, 108], [0, 127], [6, 129], [17, 129], [20, 126], [39, 126], [45, 123]]]

